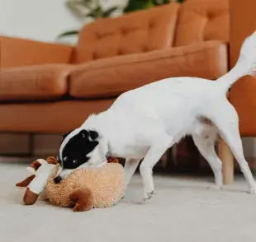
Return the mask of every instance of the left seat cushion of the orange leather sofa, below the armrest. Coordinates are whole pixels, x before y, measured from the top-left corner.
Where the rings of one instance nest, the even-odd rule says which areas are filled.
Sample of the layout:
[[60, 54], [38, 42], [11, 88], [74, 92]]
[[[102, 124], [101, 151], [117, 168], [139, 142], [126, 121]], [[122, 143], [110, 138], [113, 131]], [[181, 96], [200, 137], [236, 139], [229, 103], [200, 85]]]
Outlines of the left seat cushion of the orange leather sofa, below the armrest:
[[66, 64], [3, 68], [0, 100], [50, 100], [65, 95], [71, 69]]

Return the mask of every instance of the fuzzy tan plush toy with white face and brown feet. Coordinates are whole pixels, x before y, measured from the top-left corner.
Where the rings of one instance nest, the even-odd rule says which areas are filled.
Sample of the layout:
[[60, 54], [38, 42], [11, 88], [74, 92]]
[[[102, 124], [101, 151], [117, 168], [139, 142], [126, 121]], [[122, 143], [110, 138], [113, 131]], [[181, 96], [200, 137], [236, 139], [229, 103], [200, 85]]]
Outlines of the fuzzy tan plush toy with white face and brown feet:
[[17, 187], [26, 187], [23, 202], [34, 204], [42, 192], [53, 205], [73, 207], [73, 212], [88, 211], [92, 207], [111, 207], [123, 198], [126, 185], [124, 169], [117, 159], [100, 168], [74, 170], [59, 184], [54, 178], [59, 164], [51, 156], [31, 163], [26, 170], [32, 173]]

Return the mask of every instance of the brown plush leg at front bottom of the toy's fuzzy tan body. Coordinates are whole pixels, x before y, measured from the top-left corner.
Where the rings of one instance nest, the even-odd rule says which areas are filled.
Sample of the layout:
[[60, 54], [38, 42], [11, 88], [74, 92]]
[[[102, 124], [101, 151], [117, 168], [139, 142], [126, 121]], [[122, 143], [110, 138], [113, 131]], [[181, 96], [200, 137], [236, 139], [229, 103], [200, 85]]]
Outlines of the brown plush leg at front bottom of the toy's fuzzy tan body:
[[69, 198], [74, 202], [73, 212], [88, 211], [93, 207], [93, 195], [89, 188], [78, 188]]

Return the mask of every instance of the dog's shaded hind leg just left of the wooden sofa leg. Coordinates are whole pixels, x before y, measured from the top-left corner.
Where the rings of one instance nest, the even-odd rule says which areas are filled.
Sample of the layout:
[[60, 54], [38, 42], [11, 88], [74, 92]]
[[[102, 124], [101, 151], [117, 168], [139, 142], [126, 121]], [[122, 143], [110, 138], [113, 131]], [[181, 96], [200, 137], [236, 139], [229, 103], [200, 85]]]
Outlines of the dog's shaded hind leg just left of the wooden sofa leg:
[[218, 190], [222, 188], [222, 163], [215, 151], [215, 141], [216, 141], [216, 131], [210, 130], [206, 133], [193, 133], [192, 134], [193, 141], [200, 151], [201, 156], [203, 156], [206, 161], [211, 166], [211, 170], [213, 171], [215, 177], [215, 185], [212, 185], [210, 188], [214, 190]]

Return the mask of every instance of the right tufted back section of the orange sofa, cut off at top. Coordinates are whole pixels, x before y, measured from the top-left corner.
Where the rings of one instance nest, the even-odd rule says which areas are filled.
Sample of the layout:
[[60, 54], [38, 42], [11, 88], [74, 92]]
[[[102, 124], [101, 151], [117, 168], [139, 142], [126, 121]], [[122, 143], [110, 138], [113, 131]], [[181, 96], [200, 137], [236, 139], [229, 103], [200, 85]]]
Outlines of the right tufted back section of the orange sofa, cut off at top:
[[229, 0], [187, 0], [178, 16], [175, 46], [230, 40]]

